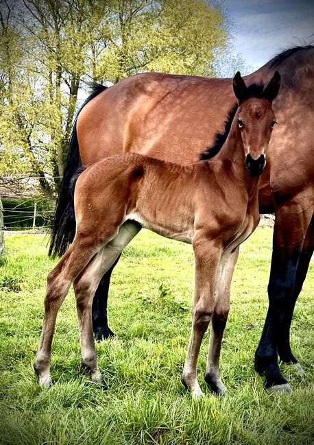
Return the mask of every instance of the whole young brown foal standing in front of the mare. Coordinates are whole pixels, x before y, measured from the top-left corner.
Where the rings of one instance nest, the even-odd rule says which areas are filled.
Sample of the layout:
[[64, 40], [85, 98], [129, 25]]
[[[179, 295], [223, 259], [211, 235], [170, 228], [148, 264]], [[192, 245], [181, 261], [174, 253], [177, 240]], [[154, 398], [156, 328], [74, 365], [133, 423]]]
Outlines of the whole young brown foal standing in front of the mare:
[[276, 121], [271, 102], [279, 86], [276, 72], [261, 97], [250, 97], [240, 73], [234, 76], [239, 108], [224, 147], [212, 160], [177, 165], [140, 154], [119, 154], [99, 160], [80, 175], [74, 195], [75, 239], [47, 278], [43, 331], [34, 363], [42, 385], [51, 385], [56, 315], [72, 283], [82, 363], [93, 381], [101, 381], [91, 318], [93, 296], [101, 277], [143, 224], [193, 245], [195, 296], [182, 383], [193, 396], [202, 395], [197, 356], [211, 321], [205, 380], [217, 394], [226, 391], [219, 376], [219, 354], [230, 281], [239, 245], [259, 221], [259, 176]]

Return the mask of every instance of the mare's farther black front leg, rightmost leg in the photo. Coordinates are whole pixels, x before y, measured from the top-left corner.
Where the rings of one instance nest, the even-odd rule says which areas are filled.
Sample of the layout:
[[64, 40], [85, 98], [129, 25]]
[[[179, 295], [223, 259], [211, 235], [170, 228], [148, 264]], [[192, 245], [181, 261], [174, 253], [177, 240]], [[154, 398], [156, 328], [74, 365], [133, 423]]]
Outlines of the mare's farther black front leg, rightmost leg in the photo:
[[314, 219], [312, 218], [309, 229], [306, 232], [303, 249], [300, 255], [298, 269], [295, 276], [295, 285], [292, 293], [291, 304], [287, 306], [285, 313], [282, 316], [282, 328], [278, 338], [278, 354], [280, 361], [287, 364], [295, 364], [300, 374], [304, 373], [300, 363], [295, 359], [290, 347], [290, 326], [292, 315], [295, 307], [295, 302], [302, 290], [303, 282], [306, 278], [309, 264], [313, 254], [314, 248]]

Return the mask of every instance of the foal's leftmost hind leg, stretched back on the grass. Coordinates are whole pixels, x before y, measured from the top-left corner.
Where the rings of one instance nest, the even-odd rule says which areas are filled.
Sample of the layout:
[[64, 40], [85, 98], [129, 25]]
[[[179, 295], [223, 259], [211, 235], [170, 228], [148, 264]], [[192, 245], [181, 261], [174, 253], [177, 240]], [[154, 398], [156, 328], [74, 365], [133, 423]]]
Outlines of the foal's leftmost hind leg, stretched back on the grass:
[[81, 237], [78, 235], [75, 237], [69, 250], [62, 256], [59, 263], [47, 277], [45, 316], [38, 353], [34, 363], [34, 370], [38, 375], [39, 382], [45, 387], [51, 385], [49, 370], [51, 341], [58, 310], [67, 296], [69, 287], [75, 277], [80, 274], [100, 248], [101, 245], [96, 245], [93, 237]]

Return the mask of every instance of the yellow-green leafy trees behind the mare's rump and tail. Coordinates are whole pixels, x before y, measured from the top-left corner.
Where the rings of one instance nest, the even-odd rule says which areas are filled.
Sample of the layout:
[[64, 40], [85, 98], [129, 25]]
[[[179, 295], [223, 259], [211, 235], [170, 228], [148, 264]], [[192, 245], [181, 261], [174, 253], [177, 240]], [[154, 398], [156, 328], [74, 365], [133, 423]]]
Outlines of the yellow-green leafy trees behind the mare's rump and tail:
[[206, 0], [4, 0], [0, 174], [38, 178], [51, 203], [80, 89], [143, 71], [214, 75], [228, 40]]

